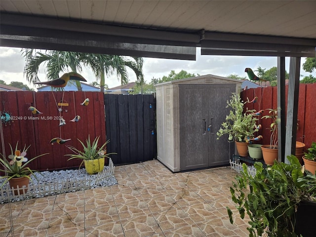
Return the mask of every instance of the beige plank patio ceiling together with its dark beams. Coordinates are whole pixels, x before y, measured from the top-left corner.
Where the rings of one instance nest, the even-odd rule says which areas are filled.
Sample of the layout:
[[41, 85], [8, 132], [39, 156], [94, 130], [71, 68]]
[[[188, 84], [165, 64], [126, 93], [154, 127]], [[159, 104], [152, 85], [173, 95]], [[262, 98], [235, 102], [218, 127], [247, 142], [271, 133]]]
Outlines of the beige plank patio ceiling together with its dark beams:
[[316, 1], [1, 0], [0, 46], [191, 59], [314, 57]]

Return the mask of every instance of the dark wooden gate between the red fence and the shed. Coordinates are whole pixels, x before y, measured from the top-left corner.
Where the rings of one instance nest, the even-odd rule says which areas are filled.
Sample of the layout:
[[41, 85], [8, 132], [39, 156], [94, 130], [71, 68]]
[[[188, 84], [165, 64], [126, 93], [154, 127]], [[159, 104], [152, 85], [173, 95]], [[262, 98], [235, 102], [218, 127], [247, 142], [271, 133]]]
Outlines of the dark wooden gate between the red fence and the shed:
[[156, 100], [153, 95], [104, 95], [108, 153], [115, 164], [157, 157]]

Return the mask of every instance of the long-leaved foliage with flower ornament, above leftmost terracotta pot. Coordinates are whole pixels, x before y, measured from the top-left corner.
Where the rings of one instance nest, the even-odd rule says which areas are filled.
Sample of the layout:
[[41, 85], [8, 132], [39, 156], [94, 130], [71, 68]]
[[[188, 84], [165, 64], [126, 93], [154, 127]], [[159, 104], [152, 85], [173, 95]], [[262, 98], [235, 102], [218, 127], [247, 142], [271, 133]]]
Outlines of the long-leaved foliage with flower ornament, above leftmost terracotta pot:
[[[21, 152], [21, 150], [18, 149], [18, 143], [19, 142], [16, 143], [14, 152], [13, 152], [11, 144], [9, 144], [10, 149], [11, 149], [11, 154], [8, 156], [8, 158], [10, 159], [10, 161], [8, 161], [2, 154], [0, 154], [1, 155], [0, 163], [4, 168], [4, 169], [0, 169], [0, 171], [6, 173], [5, 176], [0, 177], [0, 179], [5, 179], [5, 182], [2, 183], [0, 188], [2, 188], [10, 179], [13, 179], [13, 178], [27, 177], [32, 181], [30, 175], [38, 171], [30, 169], [29, 167], [27, 167], [27, 165], [33, 160], [48, 154], [48, 153], [45, 153], [40, 156], [34, 157], [32, 159], [28, 159], [25, 156], [26, 156], [27, 150], [30, 148], [31, 145], [28, 146], [27, 148], [26, 148], [26, 145], [24, 145], [24, 148]], [[25, 162], [25, 163], [22, 164], [22, 162]]]

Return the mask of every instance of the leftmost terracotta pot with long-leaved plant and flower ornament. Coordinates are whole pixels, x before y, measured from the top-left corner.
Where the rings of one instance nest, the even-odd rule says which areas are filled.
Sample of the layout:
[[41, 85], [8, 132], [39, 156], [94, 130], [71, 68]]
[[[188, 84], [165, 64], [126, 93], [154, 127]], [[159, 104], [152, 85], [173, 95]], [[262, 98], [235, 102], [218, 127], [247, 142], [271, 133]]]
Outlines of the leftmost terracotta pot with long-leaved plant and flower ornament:
[[[0, 171], [5, 174], [4, 176], [0, 177], [0, 179], [5, 179], [0, 188], [2, 188], [7, 182], [9, 182], [11, 189], [17, 189], [17, 186], [19, 186], [19, 189], [23, 188], [24, 192], [26, 193], [30, 180], [32, 181], [31, 174], [34, 174], [34, 172], [38, 172], [37, 170], [30, 169], [29, 167], [27, 167], [27, 165], [33, 160], [47, 155], [48, 153], [42, 154], [32, 159], [28, 159], [26, 158], [26, 152], [31, 145], [27, 148], [26, 145], [24, 145], [24, 148], [21, 152], [21, 150], [18, 149], [18, 143], [19, 142], [16, 143], [14, 152], [11, 144], [9, 144], [11, 154], [8, 156], [8, 158], [10, 159], [10, 161], [8, 161], [2, 154], [0, 154], [0, 163], [3, 166], [3, 169], [0, 169]], [[23, 162], [25, 163], [22, 164]], [[22, 192], [14, 190], [15, 195], [17, 195], [18, 193]]]

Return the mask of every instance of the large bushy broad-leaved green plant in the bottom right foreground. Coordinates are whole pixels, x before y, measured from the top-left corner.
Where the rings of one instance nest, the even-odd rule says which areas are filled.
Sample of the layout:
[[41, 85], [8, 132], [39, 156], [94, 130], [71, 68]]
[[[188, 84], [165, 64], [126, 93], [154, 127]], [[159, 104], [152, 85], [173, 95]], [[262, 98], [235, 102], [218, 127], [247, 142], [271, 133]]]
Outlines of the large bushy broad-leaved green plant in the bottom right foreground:
[[[287, 159], [289, 164], [275, 160], [274, 165], [267, 168], [263, 168], [261, 162], [255, 162], [254, 176], [248, 172], [247, 165], [242, 164], [241, 175], [236, 177], [230, 188], [240, 217], [243, 219], [248, 215], [250, 218], [247, 228], [250, 237], [294, 237], [297, 234], [308, 237], [310, 232], [315, 234], [312, 227], [302, 231], [295, 225], [298, 223], [295, 213], [306, 201], [314, 205], [315, 211], [316, 176], [309, 171], [304, 172], [295, 156]], [[233, 224], [233, 211], [229, 207], [227, 210]], [[314, 222], [314, 218], [312, 216], [310, 220]]]

